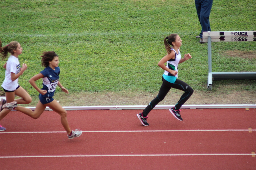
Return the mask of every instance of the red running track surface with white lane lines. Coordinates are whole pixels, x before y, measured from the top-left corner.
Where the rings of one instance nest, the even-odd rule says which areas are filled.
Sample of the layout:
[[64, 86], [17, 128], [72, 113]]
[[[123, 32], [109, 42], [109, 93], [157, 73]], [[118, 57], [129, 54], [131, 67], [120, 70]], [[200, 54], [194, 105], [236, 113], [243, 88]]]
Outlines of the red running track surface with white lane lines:
[[18, 111], [1, 124], [0, 170], [251, 170], [256, 167], [256, 109], [68, 111], [69, 140], [60, 116], [45, 111], [34, 120]]

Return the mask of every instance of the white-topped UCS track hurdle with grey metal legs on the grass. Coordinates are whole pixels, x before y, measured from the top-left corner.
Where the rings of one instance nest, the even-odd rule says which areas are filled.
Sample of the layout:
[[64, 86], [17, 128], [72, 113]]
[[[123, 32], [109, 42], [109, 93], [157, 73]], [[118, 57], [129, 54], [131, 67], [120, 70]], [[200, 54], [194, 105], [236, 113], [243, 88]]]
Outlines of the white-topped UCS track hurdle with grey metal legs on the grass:
[[203, 32], [203, 41], [208, 42], [208, 90], [213, 80], [256, 79], [256, 72], [212, 72], [212, 42], [256, 41], [256, 31], [208, 31]]

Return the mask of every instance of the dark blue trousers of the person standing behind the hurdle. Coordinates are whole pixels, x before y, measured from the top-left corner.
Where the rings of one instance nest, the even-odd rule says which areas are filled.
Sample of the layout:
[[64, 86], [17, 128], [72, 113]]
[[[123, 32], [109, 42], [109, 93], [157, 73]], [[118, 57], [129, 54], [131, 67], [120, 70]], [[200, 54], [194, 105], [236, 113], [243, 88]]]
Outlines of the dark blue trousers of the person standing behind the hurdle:
[[195, 0], [197, 16], [202, 26], [201, 33], [199, 34], [200, 38], [203, 37], [203, 32], [211, 31], [209, 17], [212, 9], [212, 1]]

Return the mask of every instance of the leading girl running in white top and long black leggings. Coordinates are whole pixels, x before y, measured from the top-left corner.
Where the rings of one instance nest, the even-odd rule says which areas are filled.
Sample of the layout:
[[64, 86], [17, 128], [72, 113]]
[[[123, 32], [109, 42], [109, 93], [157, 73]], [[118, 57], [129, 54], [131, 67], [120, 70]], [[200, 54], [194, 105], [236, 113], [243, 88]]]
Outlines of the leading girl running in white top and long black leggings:
[[[147, 118], [148, 113], [162, 100], [166, 94], [171, 90], [171, 88], [179, 89], [184, 91], [178, 103], [169, 109], [172, 115], [182, 121], [180, 116], [180, 107], [189, 99], [189, 97], [193, 94], [194, 90], [185, 82], [177, 79], [178, 78], [178, 64], [183, 63], [184, 61], [192, 58], [191, 55], [185, 54], [184, 58], [181, 58], [180, 55], [180, 46], [182, 40], [178, 34], [171, 34], [164, 39], [164, 46], [167, 51], [167, 55], [165, 55], [157, 64], [164, 71], [162, 81], [163, 84], [159, 90], [158, 95], [155, 99], [153, 99], [148, 106], [143, 110], [142, 113], [137, 114], [140, 122], [144, 126], [148, 126]], [[165, 63], [167, 62], [167, 65]]]

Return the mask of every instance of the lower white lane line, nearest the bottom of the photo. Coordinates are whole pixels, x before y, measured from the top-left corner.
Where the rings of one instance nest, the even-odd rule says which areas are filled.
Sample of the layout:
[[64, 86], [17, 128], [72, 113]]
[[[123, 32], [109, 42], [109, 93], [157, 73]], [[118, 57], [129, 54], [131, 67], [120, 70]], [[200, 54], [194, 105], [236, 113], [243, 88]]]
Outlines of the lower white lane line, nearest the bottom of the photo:
[[128, 157], [128, 156], [246, 156], [247, 153], [209, 153], [209, 154], [134, 154], [134, 155], [44, 155], [44, 156], [1, 156], [0, 158], [51, 158], [51, 157]]

